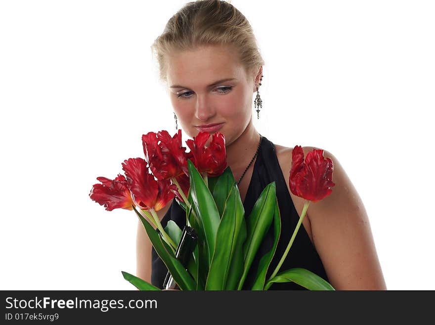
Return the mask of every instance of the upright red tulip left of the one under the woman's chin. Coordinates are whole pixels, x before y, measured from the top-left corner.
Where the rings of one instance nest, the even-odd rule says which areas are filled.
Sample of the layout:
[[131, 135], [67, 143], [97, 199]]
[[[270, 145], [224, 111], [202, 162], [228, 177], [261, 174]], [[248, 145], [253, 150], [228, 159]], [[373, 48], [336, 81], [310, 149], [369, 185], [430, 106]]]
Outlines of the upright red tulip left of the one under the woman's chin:
[[186, 147], [181, 145], [181, 130], [173, 138], [165, 130], [157, 134], [149, 132], [142, 136], [142, 145], [145, 160], [158, 180], [188, 174]]

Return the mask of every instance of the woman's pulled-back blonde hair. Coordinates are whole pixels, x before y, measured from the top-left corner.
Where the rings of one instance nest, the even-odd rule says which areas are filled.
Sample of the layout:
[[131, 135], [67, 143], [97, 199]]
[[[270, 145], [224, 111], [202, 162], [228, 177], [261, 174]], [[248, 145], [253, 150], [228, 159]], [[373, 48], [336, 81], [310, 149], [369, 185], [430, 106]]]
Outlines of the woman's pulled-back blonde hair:
[[151, 46], [160, 80], [167, 82], [168, 54], [207, 45], [231, 46], [248, 75], [264, 65], [252, 27], [238, 9], [222, 0], [197, 0], [186, 3], [169, 19]]

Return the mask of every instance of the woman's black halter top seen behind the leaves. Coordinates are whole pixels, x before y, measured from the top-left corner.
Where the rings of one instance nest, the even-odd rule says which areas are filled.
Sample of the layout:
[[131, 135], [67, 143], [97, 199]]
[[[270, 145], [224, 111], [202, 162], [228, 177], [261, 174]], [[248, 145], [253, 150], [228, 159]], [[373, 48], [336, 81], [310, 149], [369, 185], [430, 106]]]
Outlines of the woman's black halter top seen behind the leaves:
[[[289, 159], [290, 158], [291, 157], [289, 157]], [[289, 177], [289, 175], [286, 175], [286, 177]], [[275, 146], [271, 141], [263, 136], [257, 159], [254, 164], [252, 178], [248, 187], [248, 191], [246, 193], [245, 202], [243, 203], [243, 206], [245, 208], [245, 218], [250, 215], [252, 208], [254, 207], [254, 204], [260, 196], [264, 187], [273, 181], [275, 181], [276, 185], [276, 196], [278, 198], [278, 206], [281, 214], [281, 235], [278, 241], [275, 255], [269, 265], [266, 279], [271, 276], [273, 270], [275, 270], [275, 267], [278, 265], [278, 262], [281, 259], [299, 221], [299, 215], [293, 204], [293, 200], [287, 188], [287, 184], [282, 174], [281, 167], [279, 166]], [[166, 227], [168, 220], [174, 220], [174, 222], [181, 229], [183, 229], [186, 223], [185, 212], [178, 205], [175, 199], [173, 199], [171, 207], [161, 221], [163, 228]], [[258, 264], [261, 257], [265, 253], [267, 253], [272, 247], [274, 240], [273, 228], [274, 227], [272, 222], [272, 225], [270, 226], [269, 231], [264, 237], [263, 242], [261, 243], [260, 248], [257, 252], [257, 255], [251, 265], [251, 269], [243, 285], [243, 290], [249, 290], [251, 288], [257, 275]], [[159, 288], [162, 288], [163, 281], [165, 279], [166, 273], [168, 272], [168, 269], [166, 268], [160, 257], [157, 255], [154, 247], [152, 248], [151, 254], [151, 283]], [[320, 260], [316, 249], [311, 243], [311, 240], [306, 233], [303, 225], [301, 225], [301, 227], [299, 228], [296, 238], [293, 241], [292, 247], [290, 248], [287, 257], [278, 272], [286, 271], [291, 268], [307, 269], [329, 282], [322, 261]], [[269, 290], [305, 290], [305, 288], [294, 282], [287, 282], [273, 283], [270, 286]]]

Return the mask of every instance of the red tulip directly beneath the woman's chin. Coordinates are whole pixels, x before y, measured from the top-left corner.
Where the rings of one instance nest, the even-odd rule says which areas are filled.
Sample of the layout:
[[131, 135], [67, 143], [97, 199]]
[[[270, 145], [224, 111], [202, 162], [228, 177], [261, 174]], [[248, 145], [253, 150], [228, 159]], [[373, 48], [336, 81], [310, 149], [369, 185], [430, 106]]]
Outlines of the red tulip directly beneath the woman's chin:
[[192, 163], [200, 173], [208, 176], [219, 176], [226, 168], [225, 137], [220, 132], [213, 134], [212, 142], [208, 147], [205, 143], [210, 138], [207, 132], [199, 132], [193, 140], [188, 139], [186, 144], [192, 154]]

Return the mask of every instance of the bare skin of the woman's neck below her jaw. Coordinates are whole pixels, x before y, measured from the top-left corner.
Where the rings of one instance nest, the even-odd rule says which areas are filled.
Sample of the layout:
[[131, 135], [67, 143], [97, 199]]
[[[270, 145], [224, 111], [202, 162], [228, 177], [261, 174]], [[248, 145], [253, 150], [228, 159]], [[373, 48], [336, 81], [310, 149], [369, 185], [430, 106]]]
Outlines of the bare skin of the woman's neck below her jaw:
[[[237, 139], [226, 145], [227, 166], [231, 168], [235, 178], [239, 178], [245, 171], [245, 168], [257, 151], [259, 142], [260, 134], [255, 129], [251, 118], [243, 133]], [[254, 162], [252, 164], [254, 164]]]

